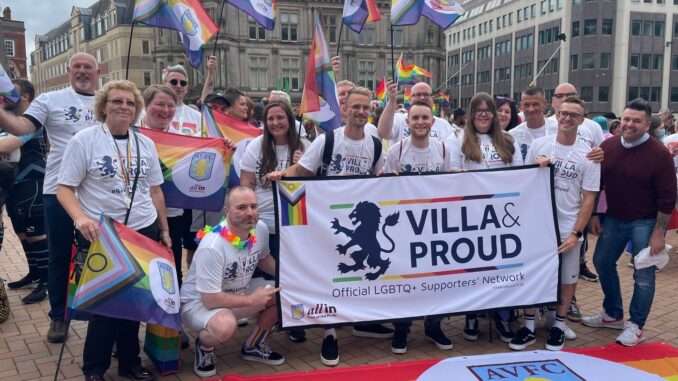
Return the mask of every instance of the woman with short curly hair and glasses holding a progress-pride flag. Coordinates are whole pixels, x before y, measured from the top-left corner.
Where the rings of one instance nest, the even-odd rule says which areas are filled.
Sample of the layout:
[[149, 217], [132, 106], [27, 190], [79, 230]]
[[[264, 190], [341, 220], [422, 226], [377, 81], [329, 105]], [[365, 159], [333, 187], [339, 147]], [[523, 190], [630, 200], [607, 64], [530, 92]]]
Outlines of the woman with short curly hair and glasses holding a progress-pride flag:
[[[106, 83], [94, 101], [101, 124], [82, 130], [66, 147], [57, 198], [75, 222], [79, 254], [87, 253], [97, 239], [102, 213], [168, 248], [172, 245], [155, 144], [130, 129], [143, 105], [132, 82]], [[83, 349], [85, 379], [104, 379], [114, 343], [119, 375], [153, 379], [153, 373], [141, 366], [138, 334], [137, 321], [92, 315]]]

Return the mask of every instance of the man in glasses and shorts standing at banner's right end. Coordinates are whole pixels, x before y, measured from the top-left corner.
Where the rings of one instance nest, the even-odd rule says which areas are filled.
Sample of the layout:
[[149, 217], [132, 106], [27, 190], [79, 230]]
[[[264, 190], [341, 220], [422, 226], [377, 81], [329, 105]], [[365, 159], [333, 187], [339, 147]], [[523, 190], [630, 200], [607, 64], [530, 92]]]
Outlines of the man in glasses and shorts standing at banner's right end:
[[[529, 164], [554, 165], [556, 213], [562, 242], [558, 247], [562, 303], [556, 311], [551, 310], [547, 315], [546, 326], [550, 326], [550, 333], [546, 349], [553, 351], [563, 348], [566, 337], [576, 338], [576, 334], [565, 325], [565, 318], [579, 277], [583, 230], [591, 218], [600, 187], [600, 164], [586, 158], [591, 147], [577, 137], [577, 127], [585, 113], [584, 103], [579, 98], [565, 99], [557, 113], [556, 135], [535, 140], [525, 158]], [[509, 348], [523, 350], [535, 343], [535, 313], [534, 308], [525, 309], [523, 327], [509, 343]]]

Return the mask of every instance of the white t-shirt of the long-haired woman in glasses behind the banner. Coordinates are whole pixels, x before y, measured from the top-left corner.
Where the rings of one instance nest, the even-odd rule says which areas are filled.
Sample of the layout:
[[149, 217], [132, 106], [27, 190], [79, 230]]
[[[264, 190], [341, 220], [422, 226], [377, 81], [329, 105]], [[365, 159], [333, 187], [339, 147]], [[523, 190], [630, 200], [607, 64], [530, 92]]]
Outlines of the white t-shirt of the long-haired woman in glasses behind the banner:
[[480, 140], [480, 153], [482, 154], [482, 161], [470, 161], [464, 157], [461, 151], [461, 146], [464, 142], [464, 134], [460, 134], [457, 138], [450, 139], [450, 168], [453, 170], [465, 169], [490, 169], [490, 168], [506, 168], [523, 165], [523, 156], [520, 153], [520, 147], [515, 139], [513, 139], [513, 160], [510, 164], [504, 163], [501, 156], [492, 144], [492, 137], [488, 134], [476, 134]]

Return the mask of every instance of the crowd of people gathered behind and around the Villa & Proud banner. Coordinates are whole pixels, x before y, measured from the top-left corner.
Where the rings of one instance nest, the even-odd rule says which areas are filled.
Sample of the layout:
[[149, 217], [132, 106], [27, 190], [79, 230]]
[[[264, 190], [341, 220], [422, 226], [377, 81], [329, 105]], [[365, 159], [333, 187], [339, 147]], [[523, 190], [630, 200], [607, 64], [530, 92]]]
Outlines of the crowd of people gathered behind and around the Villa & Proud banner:
[[[543, 311], [546, 349], [561, 350], [565, 340], [576, 338], [568, 319], [622, 330], [617, 341], [623, 345], [645, 339], [656, 269], [635, 268], [633, 258], [646, 247], [651, 254], [664, 250], [676, 205], [678, 134], [670, 110], [653, 116], [649, 103], [636, 99], [619, 117], [606, 113], [592, 120], [577, 89], [563, 83], [550, 104], [538, 87], [524, 89], [517, 101], [480, 92], [468, 110], [454, 110], [448, 121], [434, 116], [433, 91], [427, 83], [411, 87], [411, 107], [404, 110], [396, 83], [387, 83], [387, 101], [375, 107], [369, 89], [344, 80], [337, 83], [342, 127], [323, 133], [302, 121], [284, 92], [273, 91], [265, 104], [255, 104], [236, 88], [215, 93], [217, 65], [210, 57], [199, 107], [224, 112], [263, 132], [242, 154], [240, 185], [229, 190], [223, 213], [166, 207], [155, 145], [133, 128], [200, 136], [201, 114], [185, 104], [188, 73], [182, 66], [167, 68], [162, 83], [143, 93], [129, 81], [110, 81], [97, 89], [100, 69], [87, 53], [70, 59], [70, 86], [64, 89], [36, 97], [29, 81], [13, 81], [21, 98], [5, 101], [0, 111], [0, 206], [7, 209], [29, 271], [8, 287], [32, 287], [24, 303], [49, 297], [49, 342], [67, 339], [72, 248], [76, 262], [82, 263], [98, 236], [101, 213], [172, 251], [182, 320], [195, 335], [194, 372], [210, 377], [216, 374], [215, 347], [231, 340], [253, 317], [256, 323], [242, 343], [242, 358], [271, 365], [285, 361], [266, 343], [279, 319], [274, 181], [524, 164], [554, 166], [562, 303]], [[333, 58], [332, 65], [338, 74], [340, 58]], [[228, 139], [224, 145], [235, 150]], [[598, 275], [585, 260], [587, 233], [599, 236], [593, 254]], [[625, 320], [616, 264], [627, 243], [634, 290]], [[595, 316], [581, 316], [576, 304], [579, 278], [600, 282], [604, 301]], [[490, 317], [510, 349], [524, 350], [536, 342], [538, 313], [525, 309], [516, 332], [517, 311], [495, 311]], [[451, 350], [454, 344], [441, 327], [443, 318], [426, 317], [424, 335], [439, 349]], [[357, 324], [352, 333], [391, 339], [393, 353], [406, 353], [411, 321], [395, 321], [393, 326]], [[104, 379], [114, 347], [120, 376], [153, 379], [153, 372], [141, 365], [139, 327], [139, 322], [93, 315], [83, 349], [85, 379]], [[479, 327], [479, 315], [468, 313], [464, 339], [478, 340]], [[303, 342], [306, 333], [291, 330], [289, 339]], [[188, 340], [184, 334], [185, 346]], [[327, 366], [340, 361], [332, 326], [325, 327], [320, 359]]]

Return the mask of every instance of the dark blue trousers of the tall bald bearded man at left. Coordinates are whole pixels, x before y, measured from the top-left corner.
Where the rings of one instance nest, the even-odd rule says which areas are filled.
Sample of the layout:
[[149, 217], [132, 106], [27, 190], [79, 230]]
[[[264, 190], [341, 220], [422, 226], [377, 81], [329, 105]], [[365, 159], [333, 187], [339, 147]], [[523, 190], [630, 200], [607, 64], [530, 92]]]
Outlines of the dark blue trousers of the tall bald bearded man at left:
[[75, 242], [73, 220], [66, 213], [54, 194], [43, 196], [45, 203], [45, 231], [49, 246], [47, 265], [47, 291], [49, 294], [49, 318], [64, 320], [66, 313], [66, 292], [71, 250]]

